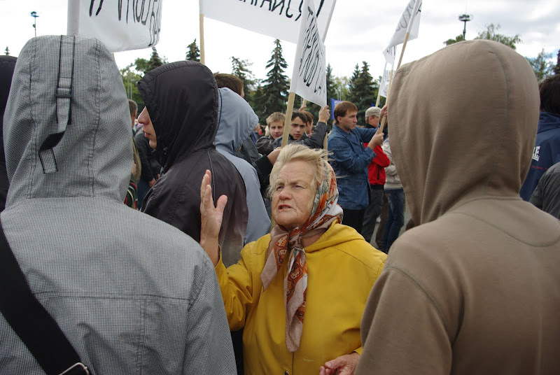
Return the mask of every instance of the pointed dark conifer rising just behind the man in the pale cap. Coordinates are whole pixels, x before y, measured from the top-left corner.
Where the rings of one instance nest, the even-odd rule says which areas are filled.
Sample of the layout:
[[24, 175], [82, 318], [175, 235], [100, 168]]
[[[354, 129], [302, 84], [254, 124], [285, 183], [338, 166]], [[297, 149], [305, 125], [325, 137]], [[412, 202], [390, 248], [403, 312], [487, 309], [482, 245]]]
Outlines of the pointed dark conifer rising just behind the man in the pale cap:
[[358, 69], [358, 64], [353, 71], [349, 83], [349, 98], [358, 107], [358, 125], [365, 125], [365, 110], [375, 104], [377, 92], [379, 90], [376, 81], [370, 74], [370, 66], [367, 62], [362, 62], [362, 68]]

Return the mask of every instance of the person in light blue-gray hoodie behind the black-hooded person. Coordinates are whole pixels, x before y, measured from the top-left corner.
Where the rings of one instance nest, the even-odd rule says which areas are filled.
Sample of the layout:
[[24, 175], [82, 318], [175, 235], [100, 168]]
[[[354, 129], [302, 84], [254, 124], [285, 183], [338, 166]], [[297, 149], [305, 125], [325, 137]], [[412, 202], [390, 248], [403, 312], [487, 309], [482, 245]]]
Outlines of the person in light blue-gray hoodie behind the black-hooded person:
[[260, 183], [257, 171], [246, 160], [235, 156], [241, 144], [255, 129], [258, 116], [253, 108], [232, 90], [218, 89], [218, 131], [216, 132], [216, 150], [224, 155], [239, 171], [245, 183], [248, 220], [244, 245], [256, 241], [270, 231], [270, 219], [265, 202], [260, 195]]

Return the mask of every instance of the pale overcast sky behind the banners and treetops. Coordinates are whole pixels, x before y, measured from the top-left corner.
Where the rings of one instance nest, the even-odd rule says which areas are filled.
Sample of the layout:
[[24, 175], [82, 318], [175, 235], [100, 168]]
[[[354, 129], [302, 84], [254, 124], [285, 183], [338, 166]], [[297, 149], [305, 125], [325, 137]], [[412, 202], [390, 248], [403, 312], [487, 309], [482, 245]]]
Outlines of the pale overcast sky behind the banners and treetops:
[[[383, 71], [381, 54], [393, 36], [397, 22], [408, 0], [338, 0], [325, 41], [327, 62], [335, 76], [351, 76], [356, 64], [370, 64], [374, 78]], [[34, 36], [32, 10], [37, 18], [37, 35], [66, 34], [67, 1], [65, 0], [0, 0], [0, 52], [6, 46], [17, 56], [25, 42]], [[522, 42], [517, 52], [535, 57], [540, 50], [556, 53], [560, 48], [560, 1], [558, 0], [424, 0], [419, 37], [409, 41], [403, 62], [409, 62], [443, 48], [443, 41], [463, 32], [458, 15], [473, 15], [467, 23], [467, 39], [477, 36], [485, 25], [500, 24], [500, 34], [519, 34]], [[274, 39], [223, 22], [205, 19], [204, 40], [206, 63], [216, 72], [231, 72], [235, 56], [252, 62], [257, 78], [265, 78], [265, 65], [270, 58]], [[186, 47], [199, 36], [197, 0], [163, 0], [162, 26], [158, 53], [169, 62], [184, 59]], [[283, 56], [288, 62], [286, 75], [291, 76], [295, 44], [283, 42]], [[400, 48], [397, 50], [397, 58]], [[123, 68], [137, 57], [148, 59], [151, 49], [116, 53]]]

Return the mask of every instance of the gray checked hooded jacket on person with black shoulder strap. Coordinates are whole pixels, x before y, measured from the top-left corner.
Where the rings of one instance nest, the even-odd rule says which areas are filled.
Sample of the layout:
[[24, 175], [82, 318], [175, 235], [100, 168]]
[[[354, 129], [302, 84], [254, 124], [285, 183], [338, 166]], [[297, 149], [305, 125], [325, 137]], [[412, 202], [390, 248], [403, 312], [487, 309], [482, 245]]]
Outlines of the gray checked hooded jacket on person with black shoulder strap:
[[[123, 204], [130, 112], [109, 50], [78, 36], [27, 42], [3, 135], [6, 239], [90, 374], [234, 374], [223, 299], [204, 250]], [[0, 373], [44, 374], [1, 314]]]

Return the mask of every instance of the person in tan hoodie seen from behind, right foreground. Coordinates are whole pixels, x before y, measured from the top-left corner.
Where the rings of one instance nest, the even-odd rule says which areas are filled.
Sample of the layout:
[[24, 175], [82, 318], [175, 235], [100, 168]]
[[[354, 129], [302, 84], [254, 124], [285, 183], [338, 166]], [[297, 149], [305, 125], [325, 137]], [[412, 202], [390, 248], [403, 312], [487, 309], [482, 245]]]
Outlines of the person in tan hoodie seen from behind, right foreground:
[[402, 66], [388, 102], [419, 226], [374, 284], [355, 374], [559, 374], [560, 221], [519, 198], [531, 66], [500, 43], [456, 43]]

